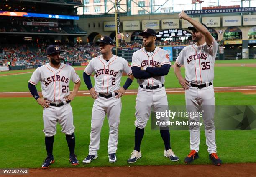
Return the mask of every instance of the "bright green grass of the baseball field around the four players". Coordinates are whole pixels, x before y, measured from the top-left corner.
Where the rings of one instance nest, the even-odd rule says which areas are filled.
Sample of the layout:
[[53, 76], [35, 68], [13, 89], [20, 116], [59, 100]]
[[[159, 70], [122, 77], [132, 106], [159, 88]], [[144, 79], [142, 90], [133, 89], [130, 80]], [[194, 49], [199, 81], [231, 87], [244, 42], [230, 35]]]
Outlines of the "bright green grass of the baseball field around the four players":
[[[237, 62], [240, 60], [232, 61]], [[254, 61], [256, 63], [256, 60], [244, 61]], [[78, 74], [82, 78], [82, 71], [78, 71]], [[31, 73], [0, 77], [0, 92], [27, 92], [27, 84], [30, 77]], [[256, 69], [252, 67], [215, 67], [214, 85], [215, 87], [256, 85], [255, 78]], [[123, 77], [122, 84], [125, 80], [126, 77]], [[166, 88], [179, 87], [173, 69], [166, 76], [165, 85]], [[136, 81], [133, 82], [130, 88], [138, 88]], [[82, 82], [80, 90], [87, 90], [84, 82]], [[74, 126], [76, 127], [76, 154], [80, 161], [78, 167], [184, 164], [183, 160], [189, 153], [189, 131], [170, 132], [172, 149], [180, 157], [179, 162], [171, 162], [163, 156], [164, 144], [160, 133], [159, 131], [151, 130], [150, 121], [148, 121], [141, 144], [142, 158], [136, 164], [126, 163], [134, 146], [135, 98], [136, 95], [125, 95], [122, 98], [123, 106], [120, 116], [117, 151], [118, 162], [115, 164], [108, 162], [107, 144], [109, 128], [108, 120], [105, 119], [101, 132], [99, 157], [89, 165], [82, 165], [82, 160], [88, 154], [90, 143], [93, 99], [85, 96], [74, 99], [71, 105], [74, 113]], [[169, 105], [185, 104], [184, 94], [168, 94], [168, 100]], [[216, 105], [256, 105], [256, 94], [215, 93], [215, 103]], [[42, 132], [42, 108], [32, 97], [28, 97], [0, 98], [0, 109], [0, 151], [5, 161], [0, 163], [0, 168], [41, 167], [46, 157], [44, 133]], [[209, 164], [210, 160], [208, 159], [203, 131], [200, 138], [200, 158], [195, 161], [195, 164]], [[223, 163], [256, 162], [256, 131], [217, 130], [216, 141], [218, 154]], [[65, 135], [61, 133], [61, 127], [58, 125], [57, 134], [54, 137], [54, 158], [56, 162], [51, 167], [70, 167], [68, 152]]]

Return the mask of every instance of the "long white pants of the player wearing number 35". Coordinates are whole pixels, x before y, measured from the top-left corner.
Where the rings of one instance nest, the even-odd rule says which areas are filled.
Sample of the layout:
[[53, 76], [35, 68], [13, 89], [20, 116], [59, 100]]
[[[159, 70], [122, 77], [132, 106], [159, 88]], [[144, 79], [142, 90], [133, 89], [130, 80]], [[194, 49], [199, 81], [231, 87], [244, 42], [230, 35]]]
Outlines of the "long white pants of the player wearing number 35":
[[[213, 85], [198, 89], [197, 87], [189, 86], [185, 92], [186, 107], [188, 112], [203, 112], [202, 119], [205, 125], [206, 145], [208, 152], [216, 153], [215, 142], [215, 126], [214, 126], [214, 112], [215, 112], [215, 97]], [[200, 117], [189, 118], [189, 122], [200, 122]], [[189, 127], [190, 130], [190, 150], [199, 151], [200, 144], [200, 127], [193, 125]]]

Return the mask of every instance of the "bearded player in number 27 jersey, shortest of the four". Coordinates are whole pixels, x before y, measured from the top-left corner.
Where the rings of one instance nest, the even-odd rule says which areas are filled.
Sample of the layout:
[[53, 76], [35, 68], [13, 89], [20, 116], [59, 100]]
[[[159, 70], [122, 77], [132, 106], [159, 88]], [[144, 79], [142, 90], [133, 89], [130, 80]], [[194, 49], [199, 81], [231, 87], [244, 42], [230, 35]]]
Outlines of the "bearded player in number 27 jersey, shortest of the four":
[[[49, 63], [38, 67], [28, 81], [28, 88], [43, 110], [45, 146], [47, 157], [42, 169], [48, 168], [54, 163], [53, 143], [56, 134], [57, 122], [62, 127], [61, 132], [66, 134], [69, 147], [69, 162], [78, 165], [77, 156], [74, 154], [75, 136], [73, 125], [73, 113], [70, 102], [74, 99], [80, 87], [80, 78], [74, 68], [61, 63], [60, 53], [64, 52], [58, 45], [50, 45], [46, 49]], [[73, 92], [69, 92], [69, 82], [74, 82]], [[38, 95], [36, 84], [41, 82], [43, 97]]]

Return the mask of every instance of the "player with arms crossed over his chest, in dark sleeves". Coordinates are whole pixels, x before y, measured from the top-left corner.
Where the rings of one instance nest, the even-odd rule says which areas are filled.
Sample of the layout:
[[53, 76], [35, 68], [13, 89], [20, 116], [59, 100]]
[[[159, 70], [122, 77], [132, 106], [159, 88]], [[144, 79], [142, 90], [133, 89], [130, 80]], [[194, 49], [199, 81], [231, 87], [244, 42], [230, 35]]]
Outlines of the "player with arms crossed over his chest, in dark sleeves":
[[[139, 35], [143, 37], [144, 47], [133, 53], [132, 66], [134, 77], [139, 84], [136, 97], [136, 120], [135, 120], [135, 146], [128, 163], [134, 163], [141, 158], [141, 141], [144, 128], [151, 113], [160, 111], [161, 106], [168, 106], [167, 95], [164, 88], [164, 76], [168, 74], [171, 62], [169, 54], [165, 50], [156, 47], [156, 32], [146, 29]], [[169, 117], [162, 117], [161, 121], [169, 121]], [[160, 134], [164, 141], [164, 156], [172, 161], [178, 161], [170, 146], [169, 127], [160, 128]]]

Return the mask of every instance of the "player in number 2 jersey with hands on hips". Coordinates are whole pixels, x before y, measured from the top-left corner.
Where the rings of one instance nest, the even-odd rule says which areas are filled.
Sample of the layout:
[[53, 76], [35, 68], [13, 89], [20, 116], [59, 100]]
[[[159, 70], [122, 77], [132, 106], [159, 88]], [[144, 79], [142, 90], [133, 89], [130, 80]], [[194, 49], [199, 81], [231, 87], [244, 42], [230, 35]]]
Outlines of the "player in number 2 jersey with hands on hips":
[[[92, 108], [89, 154], [83, 160], [84, 164], [98, 157], [100, 131], [106, 114], [109, 124], [108, 161], [117, 161], [118, 126], [122, 108], [120, 97], [134, 79], [129, 63], [124, 58], [112, 54], [113, 40], [110, 37], [101, 37], [96, 44], [100, 45], [102, 55], [90, 60], [89, 65], [84, 69], [84, 82], [92, 98], [95, 99]], [[123, 72], [127, 73], [128, 78], [123, 87], [120, 87]], [[92, 74], [95, 80], [94, 87], [90, 80]]]

